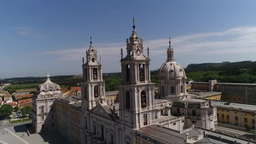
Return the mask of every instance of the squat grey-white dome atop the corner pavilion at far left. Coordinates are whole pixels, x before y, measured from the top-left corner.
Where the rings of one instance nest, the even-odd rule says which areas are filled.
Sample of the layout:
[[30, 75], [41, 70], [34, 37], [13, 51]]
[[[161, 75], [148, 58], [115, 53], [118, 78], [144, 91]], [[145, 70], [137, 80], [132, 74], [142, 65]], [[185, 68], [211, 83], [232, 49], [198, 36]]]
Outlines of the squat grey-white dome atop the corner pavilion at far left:
[[59, 85], [50, 81], [50, 75], [47, 73], [46, 82], [37, 87], [37, 91], [48, 92], [48, 91], [60, 91]]

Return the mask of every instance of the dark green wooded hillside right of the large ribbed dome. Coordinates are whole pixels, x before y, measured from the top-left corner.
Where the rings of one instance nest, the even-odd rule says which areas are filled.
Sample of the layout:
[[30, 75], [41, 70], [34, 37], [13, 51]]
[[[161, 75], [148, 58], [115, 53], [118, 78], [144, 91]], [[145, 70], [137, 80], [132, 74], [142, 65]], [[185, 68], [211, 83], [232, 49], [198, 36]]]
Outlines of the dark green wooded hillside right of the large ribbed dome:
[[190, 64], [185, 72], [187, 78], [195, 82], [208, 82], [213, 79], [231, 83], [256, 82], [256, 62], [251, 61]]

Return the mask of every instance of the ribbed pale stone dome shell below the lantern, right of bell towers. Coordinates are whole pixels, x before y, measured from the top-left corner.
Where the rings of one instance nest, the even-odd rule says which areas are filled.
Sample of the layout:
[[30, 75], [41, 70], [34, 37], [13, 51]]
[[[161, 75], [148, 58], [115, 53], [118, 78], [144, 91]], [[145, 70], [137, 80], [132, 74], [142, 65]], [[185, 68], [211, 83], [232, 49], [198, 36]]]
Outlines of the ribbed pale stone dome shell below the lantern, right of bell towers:
[[159, 77], [163, 79], [187, 79], [183, 67], [178, 62], [165, 62], [159, 69]]

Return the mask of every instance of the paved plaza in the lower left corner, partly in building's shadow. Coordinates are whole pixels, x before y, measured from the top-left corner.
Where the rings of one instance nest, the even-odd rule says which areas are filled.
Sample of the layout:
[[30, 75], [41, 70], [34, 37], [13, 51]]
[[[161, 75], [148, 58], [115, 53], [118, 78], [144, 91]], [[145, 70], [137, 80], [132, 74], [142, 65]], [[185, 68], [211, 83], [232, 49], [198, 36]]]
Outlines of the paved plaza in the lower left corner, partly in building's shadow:
[[0, 127], [2, 144], [69, 144], [59, 131], [50, 131], [28, 136], [24, 124]]

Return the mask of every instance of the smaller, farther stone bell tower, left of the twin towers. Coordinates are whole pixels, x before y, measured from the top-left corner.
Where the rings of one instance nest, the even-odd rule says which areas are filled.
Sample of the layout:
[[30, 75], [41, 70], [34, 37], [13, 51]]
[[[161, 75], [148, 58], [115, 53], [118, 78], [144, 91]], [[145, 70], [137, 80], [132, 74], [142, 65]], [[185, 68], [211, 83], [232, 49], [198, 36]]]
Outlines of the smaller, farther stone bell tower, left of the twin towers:
[[86, 63], [82, 58], [83, 82], [82, 108], [91, 110], [98, 103], [105, 102], [105, 82], [102, 80], [102, 59], [98, 62], [97, 50], [93, 49], [92, 37], [90, 48], [86, 51]]

